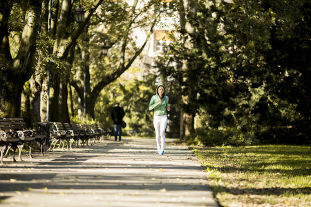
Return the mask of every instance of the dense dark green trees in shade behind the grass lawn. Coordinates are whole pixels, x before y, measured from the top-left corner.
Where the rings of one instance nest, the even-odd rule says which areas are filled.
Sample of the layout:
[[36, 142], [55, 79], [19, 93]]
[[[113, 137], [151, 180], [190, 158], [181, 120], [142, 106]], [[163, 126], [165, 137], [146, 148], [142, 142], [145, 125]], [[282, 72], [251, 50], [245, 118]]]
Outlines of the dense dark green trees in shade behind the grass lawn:
[[285, 143], [310, 143], [310, 9], [310, 1], [199, 1], [187, 16], [196, 34], [173, 48], [185, 65], [167, 70], [189, 97], [185, 112], [266, 143], [284, 143], [288, 128]]

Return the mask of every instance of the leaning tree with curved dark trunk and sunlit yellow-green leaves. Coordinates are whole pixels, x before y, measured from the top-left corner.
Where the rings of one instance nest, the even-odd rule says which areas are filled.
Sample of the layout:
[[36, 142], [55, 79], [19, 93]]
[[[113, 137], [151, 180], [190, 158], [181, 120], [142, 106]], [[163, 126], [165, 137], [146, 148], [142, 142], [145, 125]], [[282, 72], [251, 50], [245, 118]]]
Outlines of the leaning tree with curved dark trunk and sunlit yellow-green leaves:
[[[95, 84], [90, 83], [91, 76], [89, 68], [86, 68], [86, 114], [95, 118], [95, 103], [100, 92], [109, 83], [115, 81], [120, 75], [122, 75], [126, 70], [128, 70], [136, 58], [140, 55], [144, 47], [146, 46], [149, 37], [153, 33], [153, 27], [158, 22], [159, 12], [158, 12], [158, 1], [133, 1], [132, 5], [128, 3], [117, 3], [113, 1], [106, 2], [102, 5], [102, 12], [97, 15], [97, 19], [93, 20], [90, 28], [98, 28], [101, 22], [104, 22], [103, 28], [106, 30], [106, 34], [101, 34], [101, 36], [93, 37], [93, 41], [96, 42], [97, 48], [98, 41], [108, 41], [109, 44], [113, 44], [113, 50], [115, 50], [115, 55], [111, 56], [109, 59], [105, 58], [104, 61], [100, 61], [101, 64], [95, 64], [95, 68], [104, 70], [100, 77], [97, 77], [97, 82]], [[106, 12], [109, 12], [106, 15]], [[149, 15], [147, 15], [147, 13]], [[92, 27], [93, 26], [93, 27]], [[141, 45], [135, 40], [133, 36], [133, 30], [135, 28], [140, 28], [145, 30], [147, 35]], [[92, 34], [97, 34], [94, 31]], [[97, 56], [94, 58], [96, 59]], [[95, 60], [99, 61], [98, 59]], [[80, 72], [82, 75], [83, 73]], [[81, 78], [80, 78], [81, 79]], [[94, 79], [92, 79], [94, 82]], [[83, 85], [79, 79], [72, 81], [70, 83], [81, 100], [83, 97]], [[92, 87], [92, 88], [91, 88]]]

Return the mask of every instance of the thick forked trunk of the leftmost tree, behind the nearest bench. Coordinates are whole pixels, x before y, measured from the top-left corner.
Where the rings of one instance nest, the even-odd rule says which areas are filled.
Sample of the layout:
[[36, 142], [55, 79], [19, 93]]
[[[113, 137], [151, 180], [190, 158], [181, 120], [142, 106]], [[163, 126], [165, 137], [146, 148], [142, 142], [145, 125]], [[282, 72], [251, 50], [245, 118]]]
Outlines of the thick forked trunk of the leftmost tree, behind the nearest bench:
[[[30, 5], [25, 12], [23, 32], [20, 37], [20, 45], [17, 57], [10, 56], [10, 44], [8, 42], [9, 32], [6, 21], [9, 18], [12, 7], [1, 8], [3, 16], [1, 21], [1, 50], [0, 50], [0, 111], [1, 117], [21, 117], [21, 92], [24, 83], [30, 79], [32, 70], [32, 60], [35, 53], [35, 42], [37, 40], [37, 30], [39, 16], [41, 14], [41, 2], [29, 1]], [[2, 23], [5, 23], [2, 25]]]

